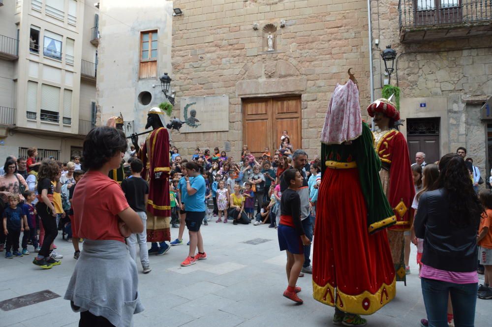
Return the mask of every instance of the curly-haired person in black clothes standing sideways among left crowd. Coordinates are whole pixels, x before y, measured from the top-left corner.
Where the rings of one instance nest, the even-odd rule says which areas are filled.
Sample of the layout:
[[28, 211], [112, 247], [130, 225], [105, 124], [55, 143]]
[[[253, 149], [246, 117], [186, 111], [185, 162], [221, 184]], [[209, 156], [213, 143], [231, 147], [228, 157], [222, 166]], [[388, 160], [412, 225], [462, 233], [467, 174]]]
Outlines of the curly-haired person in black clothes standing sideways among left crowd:
[[32, 263], [43, 269], [50, 269], [61, 264], [60, 261], [50, 258], [51, 244], [53, 244], [58, 235], [57, 212], [53, 196], [55, 192], [60, 193], [61, 186], [61, 183], [56, 183], [57, 186], [55, 187], [54, 182], [59, 181], [60, 176], [60, 167], [55, 161], [46, 159], [41, 162], [37, 174], [39, 202], [36, 204], [36, 211], [43, 224], [44, 239], [41, 249]]

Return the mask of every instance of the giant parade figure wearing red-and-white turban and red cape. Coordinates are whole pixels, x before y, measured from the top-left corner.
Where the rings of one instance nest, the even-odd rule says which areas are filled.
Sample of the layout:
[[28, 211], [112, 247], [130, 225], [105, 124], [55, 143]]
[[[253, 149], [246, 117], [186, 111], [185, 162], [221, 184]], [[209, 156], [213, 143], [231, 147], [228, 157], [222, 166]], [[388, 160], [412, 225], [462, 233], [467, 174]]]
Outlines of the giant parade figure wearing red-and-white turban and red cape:
[[381, 159], [379, 176], [398, 221], [388, 230], [391, 256], [397, 281], [403, 281], [406, 285], [403, 234], [410, 233], [412, 227], [411, 205], [415, 196], [408, 146], [403, 134], [395, 128], [395, 123], [400, 120], [400, 113], [393, 102], [378, 99], [367, 110], [379, 128], [373, 132], [375, 150]]

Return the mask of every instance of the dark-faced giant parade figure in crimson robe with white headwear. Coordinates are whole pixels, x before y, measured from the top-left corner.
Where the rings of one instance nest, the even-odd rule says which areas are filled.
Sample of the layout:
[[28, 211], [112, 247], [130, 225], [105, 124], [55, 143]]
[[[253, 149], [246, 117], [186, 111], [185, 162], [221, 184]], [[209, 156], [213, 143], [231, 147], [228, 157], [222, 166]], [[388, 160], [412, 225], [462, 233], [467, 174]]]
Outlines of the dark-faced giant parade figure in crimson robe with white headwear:
[[149, 182], [149, 200], [147, 201], [147, 241], [153, 242], [149, 253], [164, 254], [171, 240], [169, 224], [171, 205], [169, 199], [169, 132], [166, 129], [164, 112], [160, 108], [152, 108], [147, 115], [147, 125], [152, 131], [147, 136], [144, 146], [140, 149], [138, 136], [133, 134], [131, 141], [138, 151], [138, 157], [144, 164], [142, 178]]

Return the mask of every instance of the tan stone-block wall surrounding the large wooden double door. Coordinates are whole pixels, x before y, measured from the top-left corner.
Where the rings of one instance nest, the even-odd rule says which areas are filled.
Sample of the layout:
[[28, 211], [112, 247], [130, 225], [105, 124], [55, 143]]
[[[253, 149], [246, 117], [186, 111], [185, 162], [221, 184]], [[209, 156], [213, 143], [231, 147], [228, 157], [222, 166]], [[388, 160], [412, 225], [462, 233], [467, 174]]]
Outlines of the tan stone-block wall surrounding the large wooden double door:
[[[317, 154], [331, 92], [347, 81], [348, 68], [359, 82], [362, 108], [370, 99], [366, 3], [175, 0], [184, 13], [173, 19], [175, 108], [180, 97], [229, 96], [229, 131], [173, 132], [181, 153], [197, 146], [222, 149], [229, 142], [237, 158], [243, 144], [241, 98], [302, 94], [303, 148]], [[276, 29], [274, 51], [267, 51], [263, 29]]]

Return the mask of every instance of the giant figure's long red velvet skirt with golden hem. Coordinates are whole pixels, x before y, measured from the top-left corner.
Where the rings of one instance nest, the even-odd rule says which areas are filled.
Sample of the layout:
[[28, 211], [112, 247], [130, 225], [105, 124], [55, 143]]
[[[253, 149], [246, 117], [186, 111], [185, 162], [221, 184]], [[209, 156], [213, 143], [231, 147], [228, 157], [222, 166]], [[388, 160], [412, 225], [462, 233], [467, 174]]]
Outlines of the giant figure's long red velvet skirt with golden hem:
[[318, 192], [313, 250], [313, 297], [370, 315], [396, 294], [386, 231], [368, 233], [359, 172], [326, 169]]

